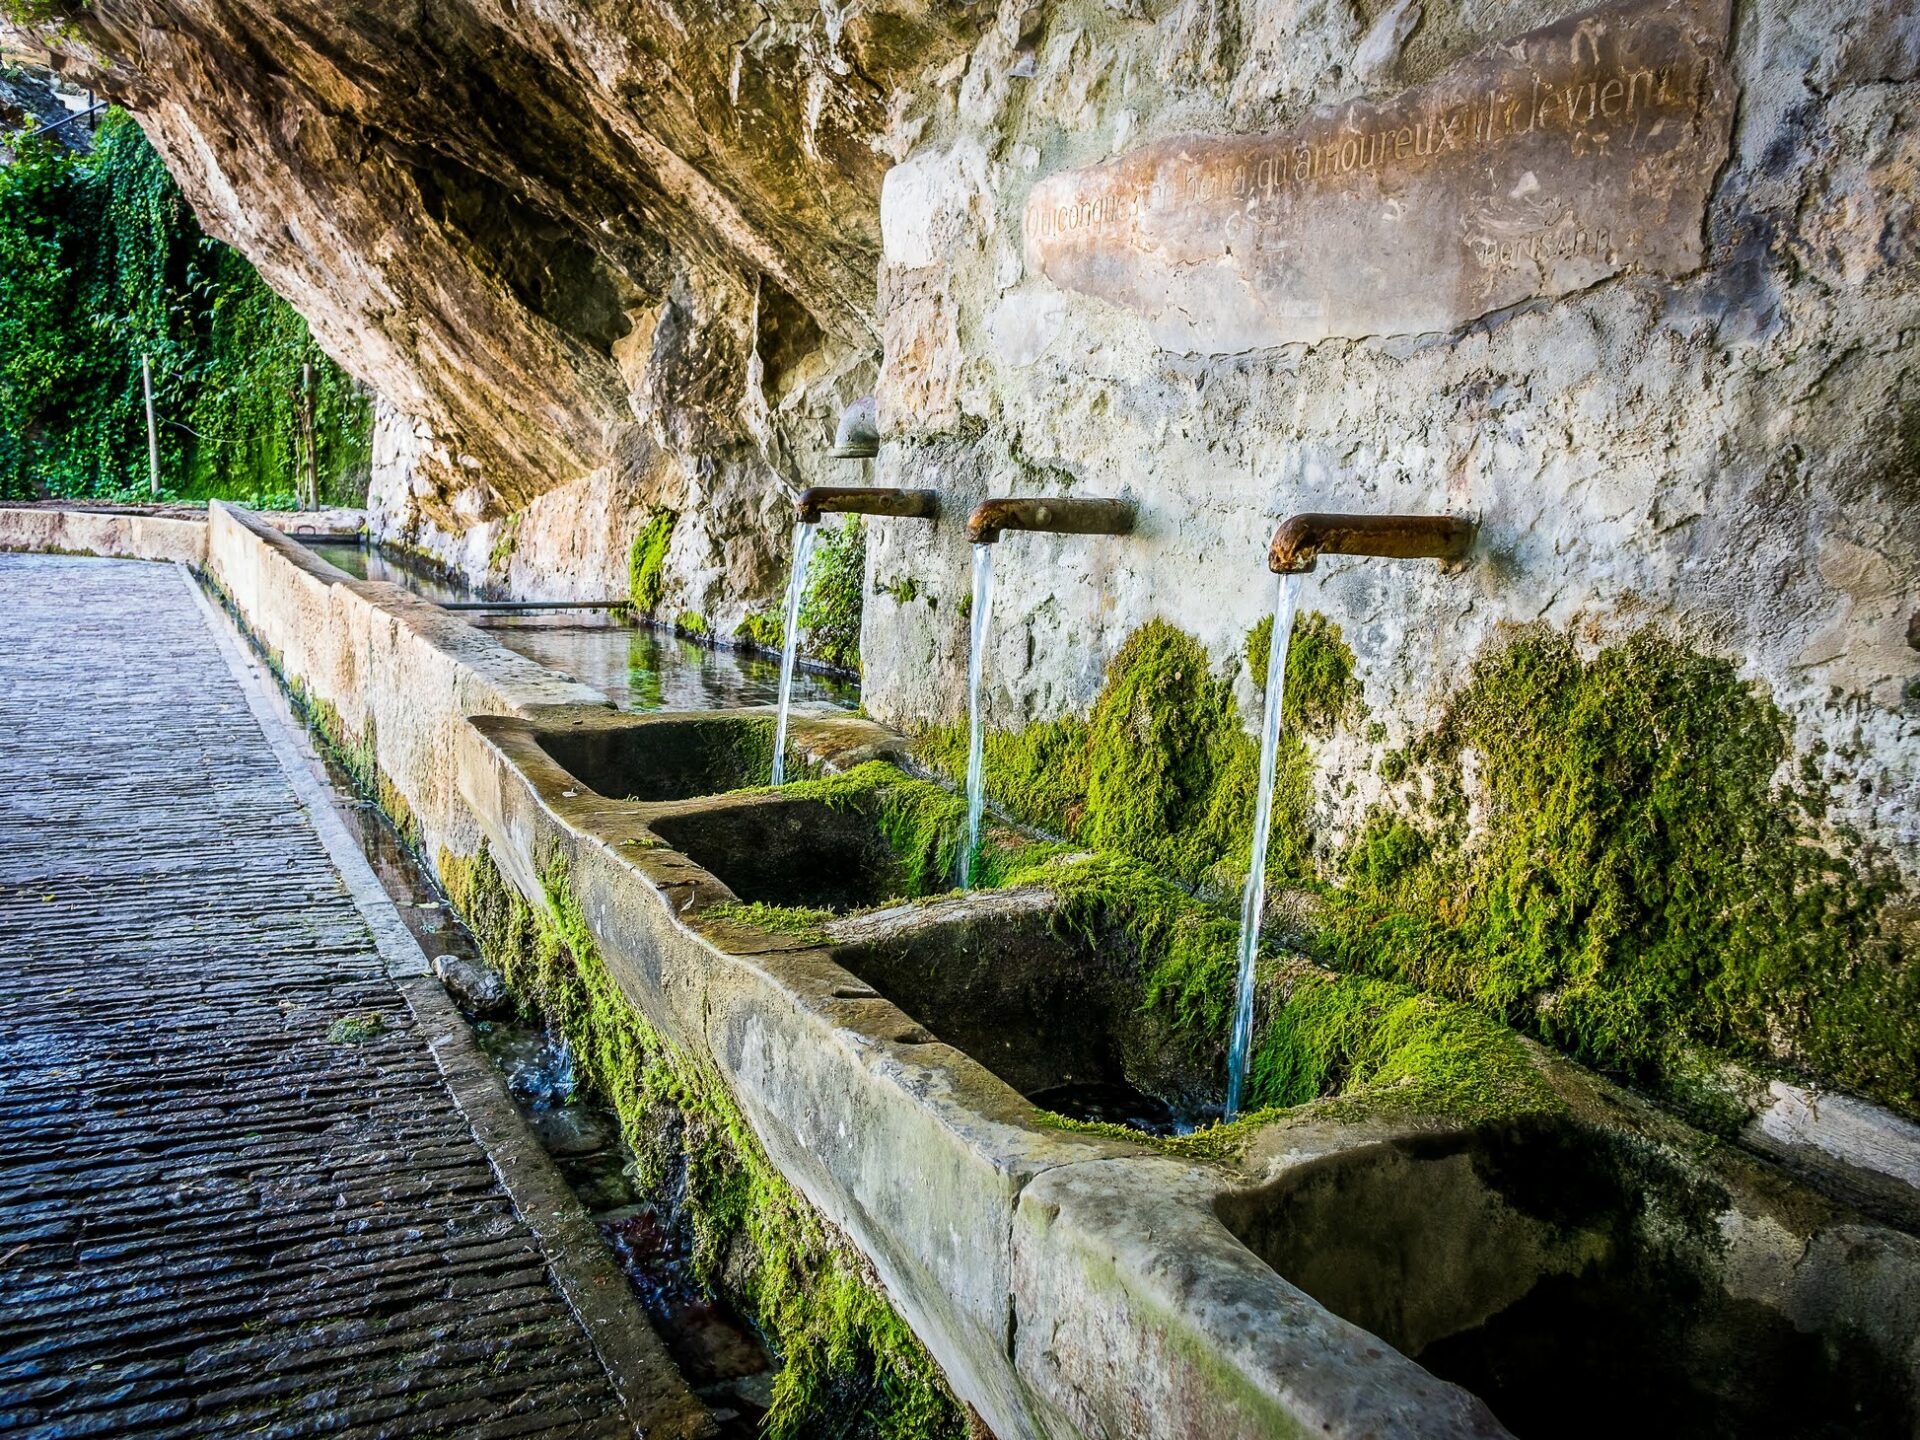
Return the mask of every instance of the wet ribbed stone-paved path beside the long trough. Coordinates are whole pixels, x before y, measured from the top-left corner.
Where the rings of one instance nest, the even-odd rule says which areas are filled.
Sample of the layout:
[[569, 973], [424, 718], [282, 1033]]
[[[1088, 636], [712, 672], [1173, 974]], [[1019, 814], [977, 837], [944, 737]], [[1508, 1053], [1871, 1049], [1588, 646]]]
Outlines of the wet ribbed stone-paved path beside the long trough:
[[0, 557], [0, 1430], [628, 1428], [173, 568]]

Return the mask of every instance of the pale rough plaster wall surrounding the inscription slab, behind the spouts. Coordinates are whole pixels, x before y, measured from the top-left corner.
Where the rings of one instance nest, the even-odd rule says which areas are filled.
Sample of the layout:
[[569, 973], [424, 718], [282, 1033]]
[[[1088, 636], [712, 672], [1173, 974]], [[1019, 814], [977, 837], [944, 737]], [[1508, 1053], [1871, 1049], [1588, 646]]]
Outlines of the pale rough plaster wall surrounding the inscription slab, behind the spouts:
[[[1386, 733], [1321, 753], [1327, 822], [1503, 626], [1586, 643], [1661, 622], [1738, 657], [1797, 720], [1841, 814], [1920, 860], [1920, 319], [1914, 6], [1734, 6], [1738, 109], [1705, 261], [1628, 269], [1459, 332], [1240, 355], [1158, 348], [1119, 305], [1031, 273], [1041, 179], [1190, 131], [1296, 123], [1390, 96], [1555, 4], [1006, 6], [897, 109], [879, 276], [881, 480], [962, 503], [1127, 495], [1127, 540], [1002, 541], [995, 724], [1083, 707], [1164, 614], [1221, 662], [1271, 607], [1292, 511], [1467, 511], [1476, 561], [1323, 561], [1304, 609], [1344, 630]], [[1394, 44], [1409, 31], [1411, 38]], [[1357, 257], [1356, 257], [1357, 259]], [[966, 540], [874, 526], [868, 707], [914, 724], [964, 695]], [[1246, 695], [1252, 710], [1252, 695]]]

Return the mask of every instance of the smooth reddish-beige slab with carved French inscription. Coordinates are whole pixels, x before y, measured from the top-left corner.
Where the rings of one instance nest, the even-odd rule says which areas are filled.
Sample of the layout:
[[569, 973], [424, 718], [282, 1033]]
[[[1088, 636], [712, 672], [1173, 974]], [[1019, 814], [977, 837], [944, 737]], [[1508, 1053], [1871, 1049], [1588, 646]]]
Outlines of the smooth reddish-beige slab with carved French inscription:
[[1628, 0], [1281, 134], [1054, 175], [1027, 267], [1167, 349], [1452, 330], [1628, 265], [1699, 265], [1734, 83], [1728, 0]]

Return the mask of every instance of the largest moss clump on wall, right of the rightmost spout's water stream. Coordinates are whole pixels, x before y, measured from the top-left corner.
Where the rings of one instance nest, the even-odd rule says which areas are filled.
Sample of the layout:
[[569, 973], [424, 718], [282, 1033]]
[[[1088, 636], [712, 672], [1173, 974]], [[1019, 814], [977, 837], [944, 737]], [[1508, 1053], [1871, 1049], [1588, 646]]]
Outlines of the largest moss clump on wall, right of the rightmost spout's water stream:
[[1818, 789], [1776, 780], [1789, 749], [1732, 662], [1655, 630], [1590, 660], [1513, 636], [1409, 749], [1430, 801], [1382, 804], [1346, 856], [1327, 952], [1630, 1075], [1705, 1044], [1914, 1112], [1897, 877], [1822, 835]]

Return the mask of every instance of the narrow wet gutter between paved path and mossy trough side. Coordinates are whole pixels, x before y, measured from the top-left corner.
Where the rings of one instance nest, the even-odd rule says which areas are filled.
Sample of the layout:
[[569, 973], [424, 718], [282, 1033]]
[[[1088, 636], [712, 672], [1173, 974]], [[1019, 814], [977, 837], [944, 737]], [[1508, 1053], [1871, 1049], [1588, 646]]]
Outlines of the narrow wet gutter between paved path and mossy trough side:
[[[351, 780], [319, 737], [315, 747], [334, 810], [426, 956], [482, 964], [474, 937], [399, 833], [371, 801], [353, 795]], [[774, 1361], [753, 1325], [693, 1275], [693, 1225], [682, 1206], [685, 1177], [672, 1177], [666, 1194], [639, 1192], [620, 1125], [580, 1091], [564, 1041], [518, 1018], [468, 1016], [468, 1023], [541, 1148], [593, 1217], [674, 1363], [712, 1409], [720, 1440], [753, 1440], [772, 1404]]]

